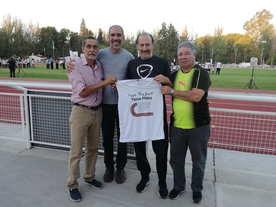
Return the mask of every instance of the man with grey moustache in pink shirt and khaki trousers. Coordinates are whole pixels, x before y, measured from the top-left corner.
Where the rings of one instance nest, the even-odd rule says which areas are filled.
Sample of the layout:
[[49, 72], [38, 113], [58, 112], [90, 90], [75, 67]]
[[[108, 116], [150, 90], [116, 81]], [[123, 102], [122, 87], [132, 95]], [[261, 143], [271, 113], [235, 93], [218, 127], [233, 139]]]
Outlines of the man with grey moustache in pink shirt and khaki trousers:
[[78, 191], [79, 163], [85, 141], [85, 173], [83, 184], [96, 189], [103, 184], [95, 179], [95, 164], [98, 156], [99, 132], [102, 121], [102, 88], [117, 81], [109, 76], [103, 81], [101, 63], [96, 61], [99, 51], [97, 39], [85, 37], [81, 49], [85, 58], [76, 60], [74, 69], [68, 73], [72, 85], [71, 101], [74, 103], [70, 116], [71, 149], [68, 165], [67, 188], [70, 200], [81, 201]]

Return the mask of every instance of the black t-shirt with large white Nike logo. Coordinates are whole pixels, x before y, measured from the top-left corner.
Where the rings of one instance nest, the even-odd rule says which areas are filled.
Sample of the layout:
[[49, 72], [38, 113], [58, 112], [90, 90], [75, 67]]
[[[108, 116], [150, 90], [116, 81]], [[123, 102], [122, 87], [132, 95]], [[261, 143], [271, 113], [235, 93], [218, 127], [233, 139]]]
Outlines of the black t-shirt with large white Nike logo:
[[[129, 61], [127, 65], [127, 79], [141, 79], [141, 78], [154, 78], [157, 75], [168, 77], [170, 81], [170, 68], [168, 61], [164, 57], [152, 56], [148, 60], [142, 60], [137, 57]], [[162, 84], [165, 85], [165, 84]], [[164, 124], [167, 123], [167, 108], [165, 96], [163, 95], [164, 105]]]

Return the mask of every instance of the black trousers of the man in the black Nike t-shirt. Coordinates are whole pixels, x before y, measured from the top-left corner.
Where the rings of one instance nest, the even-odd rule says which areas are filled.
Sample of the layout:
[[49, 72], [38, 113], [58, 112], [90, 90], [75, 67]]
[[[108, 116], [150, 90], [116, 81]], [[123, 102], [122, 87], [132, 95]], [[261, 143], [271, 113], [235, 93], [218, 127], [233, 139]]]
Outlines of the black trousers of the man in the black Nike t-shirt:
[[[167, 161], [168, 161], [168, 123], [164, 120], [165, 139], [152, 141], [152, 149], [156, 155], [156, 170], [159, 182], [166, 182]], [[150, 164], [147, 160], [146, 142], [133, 142], [137, 168], [141, 173], [142, 179], [146, 179], [150, 175]]]

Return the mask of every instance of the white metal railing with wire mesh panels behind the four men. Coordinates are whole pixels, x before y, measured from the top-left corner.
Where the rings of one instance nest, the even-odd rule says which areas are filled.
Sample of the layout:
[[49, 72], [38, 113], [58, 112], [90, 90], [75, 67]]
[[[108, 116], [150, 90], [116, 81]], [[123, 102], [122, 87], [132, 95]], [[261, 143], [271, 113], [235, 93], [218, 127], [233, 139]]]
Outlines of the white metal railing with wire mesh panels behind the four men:
[[[24, 135], [22, 140], [28, 143], [27, 148], [30, 147], [30, 143], [70, 147], [68, 120], [72, 108], [71, 92], [58, 90], [70, 90], [70, 85], [9, 82], [0, 82], [0, 85], [24, 91], [24, 94], [0, 93], [0, 137], [12, 138], [13, 133], [17, 132]], [[21, 87], [57, 90], [45, 93]], [[225, 95], [212, 92], [208, 98], [276, 102], [276, 97]], [[28, 105], [29, 108], [25, 107]], [[170, 115], [171, 106], [167, 108]], [[26, 116], [28, 114], [31, 120], [28, 120]], [[207, 166], [276, 177], [275, 112], [210, 108], [210, 115], [212, 120]], [[101, 147], [99, 149], [103, 150]], [[129, 154], [133, 155], [133, 151], [133, 146], [128, 145]], [[186, 162], [189, 164], [191, 160], [187, 158]]]

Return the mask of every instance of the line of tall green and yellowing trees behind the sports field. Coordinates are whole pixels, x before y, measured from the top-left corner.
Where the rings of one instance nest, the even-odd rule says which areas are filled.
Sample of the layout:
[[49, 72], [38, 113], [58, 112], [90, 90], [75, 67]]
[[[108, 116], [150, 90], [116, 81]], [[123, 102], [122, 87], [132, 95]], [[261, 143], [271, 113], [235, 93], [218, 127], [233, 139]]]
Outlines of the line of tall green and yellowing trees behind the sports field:
[[[161, 24], [161, 29], [153, 30], [154, 37], [153, 53], [160, 57], [165, 57], [169, 62], [177, 61], [177, 46], [183, 41], [195, 44], [197, 57], [196, 61], [204, 63], [212, 59], [212, 62], [222, 62], [224, 64], [250, 62], [251, 57], [258, 58], [258, 64], [275, 65], [276, 62], [276, 27], [270, 24], [273, 15], [270, 11], [263, 9], [244, 23], [245, 34], [226, 34], [222, 35], [223, 28], [217, 26], [214, 35], [206, 34], [198, 37], [198, 34], [189, 35], [187, 25], [182, 33], [175, 29], [172, 23]], [[126, 29], [126, 28], [125, 28]], [[135, 45], [136, 34], [125, 34], [125, 41], [122, 47], [137, 57]], [[3, 17], [0, 28], [0, 57], [9, 57], [16, 54], [20, 57], [26, 55], [40, 54], [46, 57], [53, 55], [53, 43], [55, 45], [55, 57], [64, 57], [68, 54], [69, 48], [72, 51], [82, 53], [81, 45], [84, 37], [92, 35], [97, 38], [99, 48], [109, 47], [108, 31], [99, 28], [95, 34], [85, 25], [82, 19], [80, 31], [73, 32], [62, 28], [57, 31], [55, 27], [39, 27], [39, 24], [32, 22], [22, 22], [17, 17], [11, 18], [9, 14]], [[69, 43], [65, 43], [68, 41]], [[44, 50], [45, 48], [45, 50]]]

